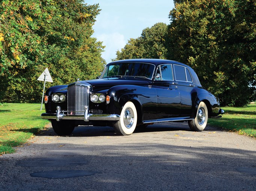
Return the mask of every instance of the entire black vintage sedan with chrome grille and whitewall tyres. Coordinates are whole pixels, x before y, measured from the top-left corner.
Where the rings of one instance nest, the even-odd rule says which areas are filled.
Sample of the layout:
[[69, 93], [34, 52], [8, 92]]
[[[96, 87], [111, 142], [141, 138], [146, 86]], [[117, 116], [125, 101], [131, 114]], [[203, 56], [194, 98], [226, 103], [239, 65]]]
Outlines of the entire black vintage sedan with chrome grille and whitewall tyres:
[[43, 119], [58, 135], [75, 126], [112, 126], [118, 135], [156, 122], [187, 121], [204, 130], [208, 118], [219, 118], [219, 98], [205, 90], [189, 66], [161, 59], [131, 59], [106, 65], [99, 79], [49, 88]]

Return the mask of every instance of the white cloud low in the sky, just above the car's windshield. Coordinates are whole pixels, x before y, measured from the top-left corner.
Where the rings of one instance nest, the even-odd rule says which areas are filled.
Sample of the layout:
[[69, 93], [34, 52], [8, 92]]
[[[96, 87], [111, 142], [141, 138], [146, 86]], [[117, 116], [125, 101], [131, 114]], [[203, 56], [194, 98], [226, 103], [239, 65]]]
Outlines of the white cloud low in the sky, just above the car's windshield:
[[114, 32], [111, 34], [100, 34], [95, 35], [97, 40], [102, 41], [105, 47], [105, 51], [102, 53], [102, 57], [106, 60], [107, 63], [111, 62], [111, 59], [116, 57], [116, 51], [121, 50], [126, 45], [126, 40], [124, 35]]

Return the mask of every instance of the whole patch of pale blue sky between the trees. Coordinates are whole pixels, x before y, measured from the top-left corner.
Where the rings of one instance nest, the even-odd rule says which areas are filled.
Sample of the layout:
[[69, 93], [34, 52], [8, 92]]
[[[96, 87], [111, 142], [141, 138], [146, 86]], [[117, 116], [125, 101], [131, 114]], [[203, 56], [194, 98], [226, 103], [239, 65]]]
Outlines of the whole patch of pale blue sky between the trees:
[[168, 15], [174, 8], [173, 0], [85, 0], [85, 3], [99, 3], [102, 9], [93, 26], [93, 37], [106, 46], [102, 57], [107, 63], [130, 38], [138, 38], [144, 28], [157, 22], [169, 24]]

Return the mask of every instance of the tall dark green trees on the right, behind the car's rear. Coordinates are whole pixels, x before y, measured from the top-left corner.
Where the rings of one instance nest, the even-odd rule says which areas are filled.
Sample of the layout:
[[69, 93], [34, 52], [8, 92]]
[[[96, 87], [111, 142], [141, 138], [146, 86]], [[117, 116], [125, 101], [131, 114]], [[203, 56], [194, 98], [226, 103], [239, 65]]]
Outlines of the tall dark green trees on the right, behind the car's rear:
[[248, 104], [256, 80], [255, 14], [255, 0], [175, 1], [168, 59], [192, 66], [222, 105]]

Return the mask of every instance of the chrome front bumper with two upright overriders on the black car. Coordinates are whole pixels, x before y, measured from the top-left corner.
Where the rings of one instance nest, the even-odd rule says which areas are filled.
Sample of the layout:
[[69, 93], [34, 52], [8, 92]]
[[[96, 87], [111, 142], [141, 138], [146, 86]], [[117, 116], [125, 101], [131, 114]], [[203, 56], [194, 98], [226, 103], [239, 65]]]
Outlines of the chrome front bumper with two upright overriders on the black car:
[[64, 110], [61, 110], [60, 106], [57, 106], [57, 113], [42, 113], [42, 119], [56, 119], [60, 121], [61, 119], [70, 120], [84, 120], [88, 122], [89, 120], [108, 120], [115, 121], [120, 119], [120, 115], [116, 114], [89, 114], [88, 107], [84, 107], [84, 115], [65, 115]]

